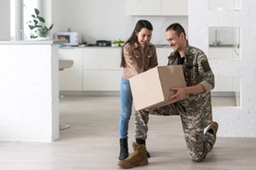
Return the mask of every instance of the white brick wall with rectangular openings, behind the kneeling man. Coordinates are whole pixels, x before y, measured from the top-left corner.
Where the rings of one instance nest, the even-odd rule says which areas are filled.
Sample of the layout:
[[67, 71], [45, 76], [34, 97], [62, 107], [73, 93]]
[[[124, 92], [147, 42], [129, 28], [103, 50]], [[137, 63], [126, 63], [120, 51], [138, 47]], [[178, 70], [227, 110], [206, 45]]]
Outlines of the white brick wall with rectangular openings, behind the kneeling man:
[[241, 11], [208, 11], [206, 0], [189, 1], [189, 42], [206, 53], [209, 26], [241, 27], [241, 59], [210, 60], [215, 76], [241, 77], [241, 107], [213, 109], [218, 136], [256, 137], [255, 7], [256, 1], [241, 0]]

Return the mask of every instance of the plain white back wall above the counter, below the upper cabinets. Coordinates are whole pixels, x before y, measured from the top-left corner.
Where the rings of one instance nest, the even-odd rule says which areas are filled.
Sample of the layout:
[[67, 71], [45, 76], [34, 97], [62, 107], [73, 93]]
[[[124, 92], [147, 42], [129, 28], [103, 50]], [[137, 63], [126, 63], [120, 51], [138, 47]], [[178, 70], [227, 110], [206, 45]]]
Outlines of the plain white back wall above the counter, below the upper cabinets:
[[[134, 17], [126, 14], [127, 0], [61, 0], [54, 10], [55, 31], [79, 31], [84, 41], [126, 40], [137, 20], [146, 19], [154, 26], [152, 42], [166, 43], [165, 30], [172, 22], [181, 23], [188, 30], [188, 17], [147, 16]], [[57, 20], [58, 19], [58, 20]]]

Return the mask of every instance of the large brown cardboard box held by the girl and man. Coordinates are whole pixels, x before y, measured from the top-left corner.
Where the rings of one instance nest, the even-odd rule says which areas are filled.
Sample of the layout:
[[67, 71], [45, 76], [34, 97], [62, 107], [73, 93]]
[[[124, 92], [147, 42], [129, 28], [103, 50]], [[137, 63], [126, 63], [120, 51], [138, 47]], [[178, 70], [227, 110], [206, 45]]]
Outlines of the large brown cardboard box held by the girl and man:
[[156, 66], [129, 81], [136, 111], [171, 104], [170, 88], [186, 87], [183, 65]]

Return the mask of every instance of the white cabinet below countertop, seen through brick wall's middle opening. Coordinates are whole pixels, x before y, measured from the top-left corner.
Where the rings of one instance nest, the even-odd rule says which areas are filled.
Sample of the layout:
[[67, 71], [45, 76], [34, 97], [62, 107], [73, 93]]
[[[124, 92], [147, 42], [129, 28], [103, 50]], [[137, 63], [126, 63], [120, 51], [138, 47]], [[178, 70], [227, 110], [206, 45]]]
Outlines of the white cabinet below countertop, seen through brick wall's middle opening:
[[208, 59], [233, 59], [234, 48], [209, 48]]

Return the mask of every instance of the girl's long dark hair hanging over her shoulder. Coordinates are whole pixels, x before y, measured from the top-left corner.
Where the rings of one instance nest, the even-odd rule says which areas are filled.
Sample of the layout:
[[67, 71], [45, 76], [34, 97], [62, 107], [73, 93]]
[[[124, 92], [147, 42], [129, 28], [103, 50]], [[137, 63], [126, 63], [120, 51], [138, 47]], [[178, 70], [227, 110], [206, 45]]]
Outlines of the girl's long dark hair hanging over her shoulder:
[[[134, 42], [137, 42], [136, 32], [141, 31], [143, 28], [147, 28], [149, 31], [153, 31], [153, 26], [148, 20], [138, 20], [134, 30], [131, 33], [131, 37], [128, 38], [128, 40], [125, 42], [125, 44], [126, 43], [132, 44]], [[125, 67], [126, 66], [125, 56], [124, 56], [124, 46], [125, 46], [125, 44], [122, 47], [122, 59], [121, 59], [120, 67]]]

